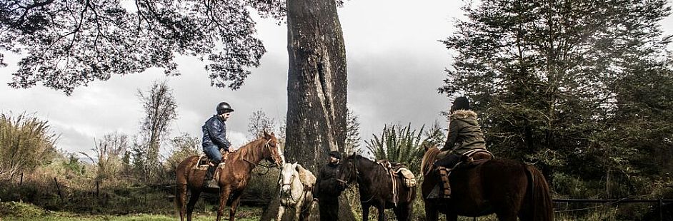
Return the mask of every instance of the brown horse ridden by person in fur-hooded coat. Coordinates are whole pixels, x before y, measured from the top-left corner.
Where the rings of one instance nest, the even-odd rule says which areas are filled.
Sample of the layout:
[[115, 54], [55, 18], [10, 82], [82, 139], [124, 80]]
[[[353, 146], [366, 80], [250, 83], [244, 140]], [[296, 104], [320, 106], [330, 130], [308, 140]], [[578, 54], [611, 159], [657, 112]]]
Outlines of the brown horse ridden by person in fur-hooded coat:
[[553, 220], [549, 186], [539, 170], [513, 160], [494, 159], [473, 168], [457, 168], [450, 175], [452, 195], [447, 199], [427, 199], [441, 182], [434, 172], [437, 147], [426, 147], [421, 171], [421, 190], [426, 220], [435, 221], [442, 212], [447, 220], [458, 215], [478, 217], [495, 213], [500, 221]]

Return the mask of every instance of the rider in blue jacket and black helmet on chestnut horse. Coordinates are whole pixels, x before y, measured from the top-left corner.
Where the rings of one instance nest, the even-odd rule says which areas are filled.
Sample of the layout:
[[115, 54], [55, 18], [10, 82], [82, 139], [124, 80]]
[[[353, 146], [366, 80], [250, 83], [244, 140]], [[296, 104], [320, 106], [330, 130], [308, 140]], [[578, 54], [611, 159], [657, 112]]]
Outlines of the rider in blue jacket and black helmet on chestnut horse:
[[[217, 114], [206, 120], [206, 123], [201, 127], [204, 131], [202, 143], [204, 153], [212, 162], [204, 177], [204, 187], [206, 188], [219, 188], [219, 185], [213, 179], [215, 168], [223, 159], [226, 160], [231, 147], [231, 143], [226, 139], [225, 122], [229, 118], [229, 113], [234, 112], [234, 109], [229, 106], [229, 103], [221, 102], [217, 105], [216, 112]], [[220, 153], [220, 150], [224, 150], [224, 155]]]

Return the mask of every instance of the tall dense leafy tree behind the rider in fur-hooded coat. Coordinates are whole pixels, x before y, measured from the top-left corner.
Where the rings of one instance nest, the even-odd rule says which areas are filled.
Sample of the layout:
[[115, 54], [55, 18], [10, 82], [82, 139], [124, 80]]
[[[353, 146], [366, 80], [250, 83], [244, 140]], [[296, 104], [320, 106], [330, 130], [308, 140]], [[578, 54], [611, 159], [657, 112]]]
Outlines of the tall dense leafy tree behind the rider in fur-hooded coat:
[[632, 93], [623, 88], [670, 78], [666, 1], [488, 0], [464, 11], [443, 41], [457, 56], [439, 91], [472, 98], [489, 150], [537, 163], [552, 183], [552, 173], [591, 180], [635, 163], [608, 139]]

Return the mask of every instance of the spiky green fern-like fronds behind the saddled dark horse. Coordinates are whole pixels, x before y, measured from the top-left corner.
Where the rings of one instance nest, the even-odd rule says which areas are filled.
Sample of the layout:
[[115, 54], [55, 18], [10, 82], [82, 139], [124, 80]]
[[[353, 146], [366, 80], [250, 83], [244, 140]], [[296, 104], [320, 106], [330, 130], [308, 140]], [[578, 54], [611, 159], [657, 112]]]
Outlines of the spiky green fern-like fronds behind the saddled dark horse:
[[419, 130], [412, 130], [411, 123], [404, 128], [401, 125], [384, 125], [381, 135], [374, 135], [365, 143], [377, 160], [405, 163], [409, 170], [419, 174], [424, 145], [438, 145], [443, 140], [438, 123], [429, 131], [424, 128], [425, 125], [422, 125]]

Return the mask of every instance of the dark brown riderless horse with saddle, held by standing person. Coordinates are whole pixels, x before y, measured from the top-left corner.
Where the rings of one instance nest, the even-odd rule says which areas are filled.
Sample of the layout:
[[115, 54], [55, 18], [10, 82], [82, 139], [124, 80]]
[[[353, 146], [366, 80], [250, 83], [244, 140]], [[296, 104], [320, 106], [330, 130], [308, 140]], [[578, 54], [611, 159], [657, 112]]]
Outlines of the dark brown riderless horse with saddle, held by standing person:
[[[369, 207], [379, 211], [379, 221], [386, 220], [385, 209], [392, 208], [397, 220], [412, 220], [416, 187], [407, 187], [402, 178], [391, 179], [390, 173], [382, 165], [362, 157], [349, 155], [339, 165], [339, 182], [348, 185], [357, 182], [362, 205], [362, 220], [369, 220]], [[393, 182], [397, 199], [393, 197]], [[394, 201], [397, 201], [397, 205]]]

